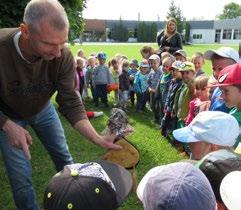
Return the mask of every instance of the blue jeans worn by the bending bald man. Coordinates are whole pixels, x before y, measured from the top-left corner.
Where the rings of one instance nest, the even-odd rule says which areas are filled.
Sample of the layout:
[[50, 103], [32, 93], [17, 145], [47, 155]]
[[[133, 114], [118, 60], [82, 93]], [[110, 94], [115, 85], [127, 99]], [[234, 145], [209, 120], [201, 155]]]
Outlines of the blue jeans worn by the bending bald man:
[[[24, 128], [27, 125], [33, 128], [47, 149], [57, 171], [62, 170], [65, 165], [73, 163], [63, 127], [51, 103], [30, 120], [13, 121]], [[0, 130], [0, 149], [17, 208], [19, 210], [39, 209], [32, 185], [31, 162], [26, 158], [23, 150], [9, 144], [8, 137], [2, 130]]]

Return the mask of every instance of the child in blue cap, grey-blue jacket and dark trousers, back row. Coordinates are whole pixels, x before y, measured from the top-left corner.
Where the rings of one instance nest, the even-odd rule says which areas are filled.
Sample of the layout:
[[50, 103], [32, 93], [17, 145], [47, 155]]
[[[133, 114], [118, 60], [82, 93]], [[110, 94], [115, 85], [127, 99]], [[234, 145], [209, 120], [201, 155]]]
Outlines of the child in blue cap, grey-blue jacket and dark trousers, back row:
[[103, 52], [98, 53], [97, 55], [99, 65], [94, 68], [93, 71], [93, 87], [95, 91], [94, 103], [95, 106], [99, 106], [99, 98], [101, 102], [108, 107], [108, 98], [107, 98], [107, 85], [110, 84], [111, 74], [109, 68], [105, 65], [106, 54]]

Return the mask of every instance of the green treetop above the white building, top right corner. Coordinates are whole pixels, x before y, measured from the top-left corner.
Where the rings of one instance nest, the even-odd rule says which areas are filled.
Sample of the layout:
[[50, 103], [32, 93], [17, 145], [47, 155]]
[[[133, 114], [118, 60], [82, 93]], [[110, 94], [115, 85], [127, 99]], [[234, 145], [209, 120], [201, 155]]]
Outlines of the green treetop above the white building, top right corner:
[[241, 4], [228, 3], [223, 8], [223, 13], [218, 15], [220, 20], [232, 19], [241, 16]]

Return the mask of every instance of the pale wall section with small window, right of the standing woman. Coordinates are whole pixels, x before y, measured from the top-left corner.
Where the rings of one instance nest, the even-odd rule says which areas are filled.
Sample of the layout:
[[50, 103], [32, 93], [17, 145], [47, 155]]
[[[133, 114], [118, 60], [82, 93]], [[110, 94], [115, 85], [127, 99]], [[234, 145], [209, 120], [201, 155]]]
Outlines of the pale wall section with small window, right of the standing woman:
[[[200, 39], [194, 39], [195, 35], [202, 35]], [[214, 29], [191, 29], [190, 30], [190, 42], [193, 44], [209, 44], [215, 41]]]

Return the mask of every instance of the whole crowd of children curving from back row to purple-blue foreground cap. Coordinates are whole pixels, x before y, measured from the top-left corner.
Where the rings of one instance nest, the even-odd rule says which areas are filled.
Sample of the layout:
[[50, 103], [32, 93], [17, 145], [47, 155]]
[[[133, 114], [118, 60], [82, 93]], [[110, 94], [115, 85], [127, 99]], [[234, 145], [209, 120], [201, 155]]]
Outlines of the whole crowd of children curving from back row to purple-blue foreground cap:
[[[88, 97], [85, 91], [89, 87], [96, 107], [99, 98], [108, 106], [112, 90], [116, 105], [125, 111], [129, 100], [133, 106], [137, 100], [138, 112], [144, 111], [148, 102], [161, 134], [190, 154], [188, 161], [157, 166], [145, 174], [137, 187], [144, 209], [160, 205], [239, 209], [235, 186], [227, 183], [229, 176], [232, 180], [241, 177], [241, 64], [237, 51], [221, 47], [194, 53], [188, 59], [183, 50], [157, 55], [146, 49], [149, 47], [141, 49], [140, 65], [136, 59], [129, 62], [117, 55], [107, 66], [103, 52], [87, 60], [76, 58], [76, 88], [83, 98]], [[205, 59], [212, 63], [213, 76], [203, 71]], [[174, 188], [178, 188], [175, 195]], [[167, 202], [170, 196], [179, 199]]]

